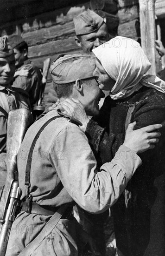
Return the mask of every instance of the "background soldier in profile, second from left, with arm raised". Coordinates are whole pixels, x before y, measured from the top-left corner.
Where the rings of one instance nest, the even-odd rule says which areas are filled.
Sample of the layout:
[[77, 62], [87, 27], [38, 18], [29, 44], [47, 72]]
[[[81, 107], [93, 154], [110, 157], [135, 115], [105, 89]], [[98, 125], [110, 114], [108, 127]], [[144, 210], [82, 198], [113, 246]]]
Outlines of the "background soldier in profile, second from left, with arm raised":
[[39, 68], [27, 57], [28, 46], [22, 37], [12, 35], [9, 37], [9, 43], [14, 50], [16, 66], [12, 86], [24, 89], [29, 94], [33, 106], [38, 100], [42, 75]]

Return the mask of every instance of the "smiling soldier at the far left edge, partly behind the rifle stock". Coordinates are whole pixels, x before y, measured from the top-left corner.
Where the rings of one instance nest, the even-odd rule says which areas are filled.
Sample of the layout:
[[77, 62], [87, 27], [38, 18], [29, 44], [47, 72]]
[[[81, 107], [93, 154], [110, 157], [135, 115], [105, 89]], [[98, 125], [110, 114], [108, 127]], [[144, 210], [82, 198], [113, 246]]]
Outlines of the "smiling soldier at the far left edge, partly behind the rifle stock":
[[6, 180], [6, 131], [7, 118], [11, 110], [29, 108], [28, 93], [21, 88], [11, 87], [15, 72], [12, 47], [6, 36], [0, 38], [0, 187]]

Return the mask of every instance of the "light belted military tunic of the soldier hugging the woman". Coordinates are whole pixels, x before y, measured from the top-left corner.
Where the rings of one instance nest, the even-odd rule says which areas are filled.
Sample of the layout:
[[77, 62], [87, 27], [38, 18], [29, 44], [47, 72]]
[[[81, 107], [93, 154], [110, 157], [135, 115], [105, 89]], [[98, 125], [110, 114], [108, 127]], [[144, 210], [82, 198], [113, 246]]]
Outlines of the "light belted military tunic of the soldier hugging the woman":
[[[32, 141], [45, 121], [57, 115], [52, 110], [28, 129], [18, 154], [19, 186], [25, 198], [25, 167]], [[59, 207], [77, 203], [89, 213], [98, 214], [109, 208], [141, 164], [138, 155], [125, 146], [116, 159], [97, 168], [88, 139], [76, 125], [61, 117], [51, 121], [40, 134], [32, 155], [30, 193], [41, 206]], [[101, 171], [100, 171], [101, 170]], [[16, 256], [43, 229], [47, 216], [20, 212], [13, 223], [6, 255]], [[42, 222], [42, 223], [41, 223]], [[51, 241], [44, 239], [34, 255], [76, 256], [74, 220], [61, 219]], [[20, 236], [17, 227], [26, 225]], [[32, 225], [32, 230], [29, 229]], [[34, 228], [33, 228], [34, 227]], [[59, 235], [60, 234], [60, 235]]]

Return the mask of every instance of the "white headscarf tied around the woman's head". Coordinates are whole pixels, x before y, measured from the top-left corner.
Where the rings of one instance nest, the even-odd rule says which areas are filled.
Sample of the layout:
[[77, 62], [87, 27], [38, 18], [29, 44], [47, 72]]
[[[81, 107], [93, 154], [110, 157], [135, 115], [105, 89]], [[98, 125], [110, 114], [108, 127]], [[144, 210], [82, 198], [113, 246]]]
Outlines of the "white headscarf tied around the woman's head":
[[109, 94], [113, 100], [126, 98], [142, 86], [165, 93], [165, 81], [155, 75], [144, 76], [151, 63], [137, 41], [116, 36], [92, 51], [116, 81]]

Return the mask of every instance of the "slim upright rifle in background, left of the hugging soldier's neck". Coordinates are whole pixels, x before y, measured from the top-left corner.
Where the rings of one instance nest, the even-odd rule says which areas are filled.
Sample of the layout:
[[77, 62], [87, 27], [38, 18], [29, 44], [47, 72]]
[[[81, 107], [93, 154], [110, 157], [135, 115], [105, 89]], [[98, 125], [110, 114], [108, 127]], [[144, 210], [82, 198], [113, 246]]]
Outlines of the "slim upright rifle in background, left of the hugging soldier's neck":
[[43, 65], [43, 75], [42, 75], [43, 77], [42, 77], [41, 90], [39, 93], [38, 102], [37, 102], [37, 105], [34, 106], [34, 108], [33, 108], [34, 115], [36, 117], [38, 117], [38, 115], [40, 115], [44, 112], [44, 106], [43, 106], [44, 88], [46, 85], [50, 64], [51, 64], [51, 58], [47, 58], [44, 61], [44, 65]]

